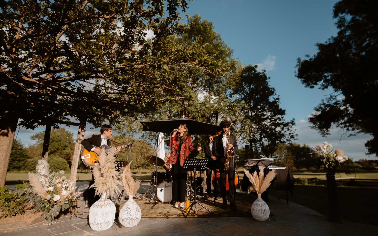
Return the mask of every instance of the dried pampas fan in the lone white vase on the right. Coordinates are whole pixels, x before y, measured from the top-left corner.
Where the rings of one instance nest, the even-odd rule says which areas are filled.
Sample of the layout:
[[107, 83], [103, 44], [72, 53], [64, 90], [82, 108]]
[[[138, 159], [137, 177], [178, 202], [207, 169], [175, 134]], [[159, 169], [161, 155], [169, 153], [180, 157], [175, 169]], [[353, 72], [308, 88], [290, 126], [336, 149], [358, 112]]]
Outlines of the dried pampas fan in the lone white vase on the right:
[[271, 170], [269, 173], [264, 177], [264, 170], [261, 168], [260, 170], [260, 177], [257, 175], [257, 171], [253, 172], [253, 174], [249, 173], [248, 170], [243, 169], [245, 175], [248, 177], [249, 182], [251, 182], [251, 186], [248, 187], [248, 193], [251, 193], [251, 191], [254, 191], [256, 193], [263, 193], [265, 192], [271, 182], [273, 181], [274, 177], [276, 177], [276, 170]]

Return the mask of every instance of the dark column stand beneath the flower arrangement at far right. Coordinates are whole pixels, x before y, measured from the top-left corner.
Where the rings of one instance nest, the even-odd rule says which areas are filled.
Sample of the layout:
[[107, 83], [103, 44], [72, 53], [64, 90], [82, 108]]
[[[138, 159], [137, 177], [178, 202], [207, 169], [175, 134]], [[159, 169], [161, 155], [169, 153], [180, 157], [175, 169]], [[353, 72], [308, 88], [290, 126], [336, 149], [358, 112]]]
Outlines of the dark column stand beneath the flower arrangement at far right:
[[337, 193], [336, 193], [335, 170], [333, 170], [332, 168], [329, 168], [326, 174], [326, 177], [327, 177], [328, 205], [330, 209], [330, 220], [334, 222], [340, 222], [339, 204], [338, 204]]

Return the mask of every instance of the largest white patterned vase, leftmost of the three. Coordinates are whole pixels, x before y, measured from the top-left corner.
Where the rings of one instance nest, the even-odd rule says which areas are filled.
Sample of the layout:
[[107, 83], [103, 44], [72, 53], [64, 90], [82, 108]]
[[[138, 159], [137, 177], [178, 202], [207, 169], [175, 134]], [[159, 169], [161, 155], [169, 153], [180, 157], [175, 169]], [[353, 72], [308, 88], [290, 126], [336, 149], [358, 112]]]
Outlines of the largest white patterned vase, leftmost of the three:
[[105, 192], [89, 209], [89, 226], [92, 230], [107, 230], [112, 227], [115, 216], [116, 206]]

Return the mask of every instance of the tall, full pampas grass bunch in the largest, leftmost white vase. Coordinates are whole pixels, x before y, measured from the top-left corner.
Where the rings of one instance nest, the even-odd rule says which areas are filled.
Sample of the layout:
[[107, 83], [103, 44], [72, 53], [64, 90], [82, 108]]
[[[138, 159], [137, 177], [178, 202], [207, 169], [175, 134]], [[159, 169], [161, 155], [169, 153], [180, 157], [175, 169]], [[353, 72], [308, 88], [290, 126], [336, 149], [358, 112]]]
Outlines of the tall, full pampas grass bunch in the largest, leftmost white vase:
[[91, 188], [96, 188], [96, 194], [107, 193], [107, 196], [114, 197], [116, 194], [121, 193], [117, 185], [121, 185], [119, 173], [116, 170], [116, 164], [114, 154], [116, 148], [112, 147], [107, 153], [104, 148], [99, 156], [99, 164], [93, 167], [93, 177], [95, 177], [95, 183], [91, 185]]

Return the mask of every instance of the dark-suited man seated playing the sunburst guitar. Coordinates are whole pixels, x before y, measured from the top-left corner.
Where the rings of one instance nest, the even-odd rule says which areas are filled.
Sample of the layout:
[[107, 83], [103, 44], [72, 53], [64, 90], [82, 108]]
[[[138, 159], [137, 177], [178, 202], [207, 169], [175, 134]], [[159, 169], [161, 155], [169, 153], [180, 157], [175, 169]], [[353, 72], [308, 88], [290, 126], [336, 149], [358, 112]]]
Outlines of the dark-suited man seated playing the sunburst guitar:
[[[95, 148], [95, 147], [92, 147], [92, 145], [96, 147], [100, 147], [101, 145], [106, 144], [110, 147], [110, 140], [108, 139], [112, 136], [112, 130], [113, 130], [112, 126], [106, 125], [106, 124], [102, 125], [100, 129], [100, 133], [101, 133], [100, 135], [93, 134], [92, 137], [82, 140], [81, 144], [88, 151], [93, 151], [99, 155], [101, 153], [101, 148]], [[117, 147], [115, 156], [118, 156], [119, 151], [121, 151], [121, 148]], [[92, 172], [92, 168], [90, 169]], [[87, 190], [85, 190], [83, 193], [84, 199], [88, 200], [88, 208], [90, 208], [93, 203], [95, 203], [97, 200], [100, 199], [99, 195], [95, 196], [95, 189], [89, 188], [94, 182], [95, 182], [95, 177], [93, 177], [93, 173], [92, 173], [92, 181], [89, 183]]]

